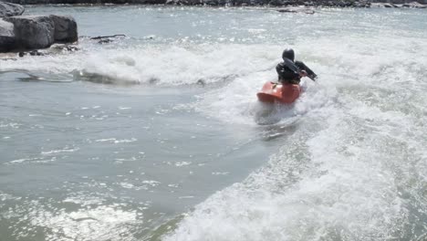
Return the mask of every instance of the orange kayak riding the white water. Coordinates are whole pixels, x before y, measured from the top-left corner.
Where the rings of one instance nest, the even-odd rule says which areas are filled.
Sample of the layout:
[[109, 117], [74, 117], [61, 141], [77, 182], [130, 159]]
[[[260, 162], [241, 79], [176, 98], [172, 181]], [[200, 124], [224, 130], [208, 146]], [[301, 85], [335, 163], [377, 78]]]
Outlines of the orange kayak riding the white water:
[[256, 94], [258, 100], [266, 103], [285, 103], [290, 104], [298, 99], [301, 93], [301, 87], [296, 84], [279, 84], [268, 81], [263, 89]]

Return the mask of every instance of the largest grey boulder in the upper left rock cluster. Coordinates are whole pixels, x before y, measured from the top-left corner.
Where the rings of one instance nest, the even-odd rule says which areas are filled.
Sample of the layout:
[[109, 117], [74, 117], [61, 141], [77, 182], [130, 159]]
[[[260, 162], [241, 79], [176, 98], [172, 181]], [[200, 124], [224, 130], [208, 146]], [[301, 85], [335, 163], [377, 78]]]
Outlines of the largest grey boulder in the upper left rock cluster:
[[15, 26], [16, 48], [44, 48], [54, 43], [55, 24], [49, 16], [11, 16]]

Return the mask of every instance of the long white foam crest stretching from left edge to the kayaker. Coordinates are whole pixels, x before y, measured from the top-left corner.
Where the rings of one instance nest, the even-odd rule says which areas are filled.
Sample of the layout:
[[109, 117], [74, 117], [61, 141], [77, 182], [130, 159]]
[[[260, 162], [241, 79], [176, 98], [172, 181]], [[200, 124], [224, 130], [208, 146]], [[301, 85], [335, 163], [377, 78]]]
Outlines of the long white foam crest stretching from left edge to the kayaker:
[[273, 68], [279, 51], [276, 46], [228, 44], [130, 45], [101, 51], [89, 43], [83, 47], [76, 53], [4, 61], [2, 70], [74, 73], [75, 79], [113, 84], [209, 84]]

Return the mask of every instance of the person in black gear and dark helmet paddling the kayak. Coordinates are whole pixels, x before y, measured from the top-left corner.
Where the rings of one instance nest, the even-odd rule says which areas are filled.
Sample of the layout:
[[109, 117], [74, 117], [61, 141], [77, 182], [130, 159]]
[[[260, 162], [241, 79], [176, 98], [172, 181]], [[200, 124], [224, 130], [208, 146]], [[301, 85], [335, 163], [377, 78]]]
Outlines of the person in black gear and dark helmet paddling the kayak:
[[302, 77], [308, 77], [315, 80], [316, 75], [313, 70], [308, 68], [303, 62], [295, 61], [295, 52], [292, 48], [286, 48], [282, 53], [283, 62], [276, 66], [278, 81], [280, 83], [299, 84]]

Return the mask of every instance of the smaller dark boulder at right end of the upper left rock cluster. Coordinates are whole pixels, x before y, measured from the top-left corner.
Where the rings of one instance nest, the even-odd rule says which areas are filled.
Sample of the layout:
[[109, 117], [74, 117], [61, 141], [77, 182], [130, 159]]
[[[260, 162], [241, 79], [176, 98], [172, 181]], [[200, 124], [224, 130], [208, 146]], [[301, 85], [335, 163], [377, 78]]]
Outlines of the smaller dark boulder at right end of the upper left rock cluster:
[[55, 42], [76, 42], [78, 40], [78, 26], [72, 16], [49, 16], [54, 22]]

